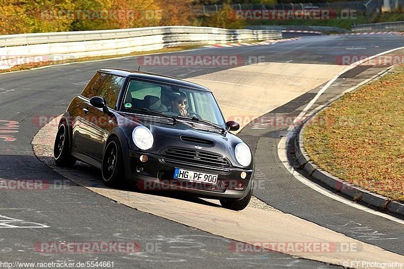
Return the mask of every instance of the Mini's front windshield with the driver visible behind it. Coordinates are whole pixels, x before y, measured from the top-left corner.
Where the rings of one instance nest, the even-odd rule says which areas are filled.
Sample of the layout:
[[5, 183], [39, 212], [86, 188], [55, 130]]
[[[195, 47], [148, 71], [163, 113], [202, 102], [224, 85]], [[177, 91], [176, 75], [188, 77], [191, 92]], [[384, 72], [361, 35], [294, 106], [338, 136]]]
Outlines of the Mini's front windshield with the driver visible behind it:
[[159, 82], [131, 80], [121, 111], [137, 113], [140, 109], [174, 117], [183, 116], [179, 119], [196, 117], [225, 128], [219, 106], [213, 94], [208, 91]]

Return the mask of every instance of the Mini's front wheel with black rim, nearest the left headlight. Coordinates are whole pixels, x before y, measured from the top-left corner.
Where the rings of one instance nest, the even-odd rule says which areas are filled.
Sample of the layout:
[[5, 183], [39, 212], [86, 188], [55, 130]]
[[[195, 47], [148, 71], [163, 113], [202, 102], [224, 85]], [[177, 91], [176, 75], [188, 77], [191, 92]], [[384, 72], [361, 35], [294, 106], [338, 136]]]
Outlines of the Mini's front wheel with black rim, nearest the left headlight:
[[116, 137], [111, 138], [105, 147], [101, 171], [107, 187], [117, 187], [124, 182], [122, 148]]

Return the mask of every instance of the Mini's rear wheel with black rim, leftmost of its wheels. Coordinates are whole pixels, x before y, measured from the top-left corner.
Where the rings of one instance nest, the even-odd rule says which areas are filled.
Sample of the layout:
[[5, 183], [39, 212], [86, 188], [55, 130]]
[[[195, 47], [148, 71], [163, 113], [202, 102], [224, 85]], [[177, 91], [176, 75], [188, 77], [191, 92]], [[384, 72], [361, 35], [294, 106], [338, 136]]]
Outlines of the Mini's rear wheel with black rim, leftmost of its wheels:
[[62, 122], [54, 144], [54, 160], [57, 166], [72, 167], [76, 163], [77, 159], [70, 155], [69, 147], [69, 130], [66, 122]]

